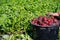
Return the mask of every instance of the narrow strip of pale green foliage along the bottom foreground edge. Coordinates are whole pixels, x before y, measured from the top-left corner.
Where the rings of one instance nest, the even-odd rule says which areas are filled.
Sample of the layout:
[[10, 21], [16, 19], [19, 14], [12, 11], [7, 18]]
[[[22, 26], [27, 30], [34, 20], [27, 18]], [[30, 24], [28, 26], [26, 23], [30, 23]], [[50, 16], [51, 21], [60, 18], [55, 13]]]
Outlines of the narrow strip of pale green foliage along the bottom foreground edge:
[[28, 34], [3, 35], [2, 40], [32, 40]]

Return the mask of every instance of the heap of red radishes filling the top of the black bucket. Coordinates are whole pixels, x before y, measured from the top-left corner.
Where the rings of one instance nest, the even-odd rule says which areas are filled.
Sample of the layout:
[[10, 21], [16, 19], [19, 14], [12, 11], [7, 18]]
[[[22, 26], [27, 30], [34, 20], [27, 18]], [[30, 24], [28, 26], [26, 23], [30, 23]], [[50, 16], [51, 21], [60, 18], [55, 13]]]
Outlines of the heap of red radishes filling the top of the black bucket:
[[49, 27], [51, 25], [58, 25], [59, 23], [54, 17], [40, 16], [38, 18], [32, 19], [31, 24], [36, 26], [40, 25], [41, 27]]

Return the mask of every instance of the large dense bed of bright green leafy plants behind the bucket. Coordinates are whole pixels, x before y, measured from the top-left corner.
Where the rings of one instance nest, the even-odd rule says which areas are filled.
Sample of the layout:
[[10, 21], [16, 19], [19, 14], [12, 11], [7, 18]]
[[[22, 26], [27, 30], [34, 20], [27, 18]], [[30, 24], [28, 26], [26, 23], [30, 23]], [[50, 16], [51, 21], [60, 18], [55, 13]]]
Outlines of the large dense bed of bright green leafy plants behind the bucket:
[[32, 18], [59, 11], [60, 0], [0, 0], [0, 32], [26, 32]]

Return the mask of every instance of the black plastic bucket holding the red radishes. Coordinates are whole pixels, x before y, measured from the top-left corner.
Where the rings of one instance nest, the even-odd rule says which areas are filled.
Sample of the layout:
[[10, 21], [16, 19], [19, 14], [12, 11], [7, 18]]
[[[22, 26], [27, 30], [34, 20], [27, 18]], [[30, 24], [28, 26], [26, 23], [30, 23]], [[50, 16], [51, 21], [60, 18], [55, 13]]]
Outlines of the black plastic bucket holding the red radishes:
[[52, 25], [50, 27], [42, 27], [39, 25], [33, 25], [34, 29], [34, 40], [57, 40], [58, 39], [58, 32], [59, 32], [59, 25]]

